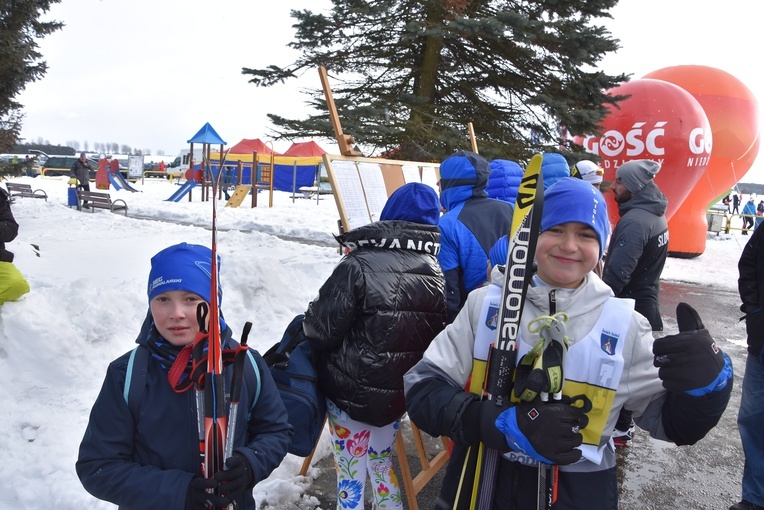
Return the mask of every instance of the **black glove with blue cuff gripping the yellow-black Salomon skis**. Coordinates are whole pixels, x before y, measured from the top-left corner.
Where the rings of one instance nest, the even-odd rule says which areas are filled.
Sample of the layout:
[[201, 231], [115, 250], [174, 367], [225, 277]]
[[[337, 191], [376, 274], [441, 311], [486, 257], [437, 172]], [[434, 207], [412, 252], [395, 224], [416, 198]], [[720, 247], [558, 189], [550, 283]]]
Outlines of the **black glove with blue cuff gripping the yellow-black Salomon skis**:
[[588, 420], [580, 407], [561, 402], [520, 402], [499, 416], [496, 426], [509, 446], [545, 464], [573, 464], [581, 458], [580, 429]]

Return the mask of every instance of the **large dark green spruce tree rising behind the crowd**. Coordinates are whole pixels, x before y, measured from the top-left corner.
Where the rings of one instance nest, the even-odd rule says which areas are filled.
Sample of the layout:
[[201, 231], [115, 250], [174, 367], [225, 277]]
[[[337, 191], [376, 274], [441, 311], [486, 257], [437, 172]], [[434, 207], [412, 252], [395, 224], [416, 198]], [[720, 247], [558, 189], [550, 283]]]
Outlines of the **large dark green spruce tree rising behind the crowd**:
[[[578, 150], [564, 132], [595, 132], [605, 90], [626, 81], [597, 63], [618, 49], [600, 25], [617, 0], [332, 0], [327, 14], [292, 11], [301, 56], [244, 68], [269, 87], [316, 73], [305, 119], [268, 115], [277, 139], [333, 138], [318, 87], [324, 66], [343, 130], [374, 154], [437, 161], [469, 149], [472, 123], [487, 158]], [[565, 128], [565, 129], [563, 129]]]

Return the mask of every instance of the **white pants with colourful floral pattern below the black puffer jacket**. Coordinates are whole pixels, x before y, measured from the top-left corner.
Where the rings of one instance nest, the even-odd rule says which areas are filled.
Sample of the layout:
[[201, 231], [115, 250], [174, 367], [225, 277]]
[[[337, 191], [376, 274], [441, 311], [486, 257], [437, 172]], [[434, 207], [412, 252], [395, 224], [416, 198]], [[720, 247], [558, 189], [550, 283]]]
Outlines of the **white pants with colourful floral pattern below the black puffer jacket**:
[[326, 411], [337, 469], [337, 510], [363, 510], [366, 473], [371, 480], [373, 508], [402, 509], [398, 477], [393, 471], [393, 445], [401, 420], [373, 427], [351, 419], [329, 399]]

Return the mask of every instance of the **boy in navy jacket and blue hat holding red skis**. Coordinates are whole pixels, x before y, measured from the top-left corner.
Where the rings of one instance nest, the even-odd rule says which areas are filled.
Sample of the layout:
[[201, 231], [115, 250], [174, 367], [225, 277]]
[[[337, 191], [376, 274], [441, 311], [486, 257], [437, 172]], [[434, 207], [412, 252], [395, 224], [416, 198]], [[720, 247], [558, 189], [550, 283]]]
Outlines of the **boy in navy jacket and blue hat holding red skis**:
[[[235, 504], [255, 510], [252, 488], [287, 453], [292, 427], [286, 408], [265, 362], [250, 350], [255, 363], [244, 365], [233, 455], [226, 470], [210, 478], [201, 474], [188, 354], [199, 331], [197, 307], [210, 302], [211, 261], [209, 248], [187, 243], [151, 259], [149, 312], [136, 339], [137, 349], [147, 349], [148, 355], [142, 367], [129, 364], [131, 353], [113, 361], [90, 413], [77, 475], [90, 494], [121, 509], [201, 510]], [[222, 312], [219, 320], [223, 349], [235, 349], [238, 344]], [[173, 367], [176, 377], [170, 376]], [[140, 370], [145, 370], [145, 385], [134, 391], [129, 381]], [[230, 366], [224, 370], [227, 394], [231, 372]]]

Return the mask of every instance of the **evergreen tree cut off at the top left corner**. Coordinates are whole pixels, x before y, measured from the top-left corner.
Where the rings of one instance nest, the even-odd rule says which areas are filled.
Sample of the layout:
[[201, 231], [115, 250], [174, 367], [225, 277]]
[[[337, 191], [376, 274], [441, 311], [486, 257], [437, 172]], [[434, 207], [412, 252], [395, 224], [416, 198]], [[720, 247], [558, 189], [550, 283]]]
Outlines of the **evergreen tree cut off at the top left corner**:
[[23, 113], [16, 100], [26, 84], [45, 75], [36, 39], [63, 24], [40, 21], [50, 6], [60, 0], [0, 0], [0, 151], [9, 151], [19, 141]]

